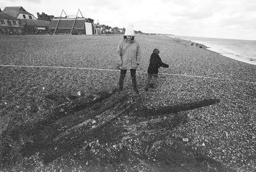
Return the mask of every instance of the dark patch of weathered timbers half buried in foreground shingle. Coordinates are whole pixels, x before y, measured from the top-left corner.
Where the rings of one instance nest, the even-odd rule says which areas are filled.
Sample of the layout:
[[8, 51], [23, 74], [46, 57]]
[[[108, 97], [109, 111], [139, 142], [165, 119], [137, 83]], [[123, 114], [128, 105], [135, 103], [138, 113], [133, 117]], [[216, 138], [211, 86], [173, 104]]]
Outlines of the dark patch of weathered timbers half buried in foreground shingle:
[[[80, 166], [89, 164], [83, 169], [87, 171], [224, 170], [217, 161], [184, 146], [166, 132], [186, 122], [187, 115], [179, 112], [219, 103], [217, 99], [146, 109], [140, 105], [140, 95], [129, 89], [86, 97], [45, 98], [56, 107], [43, 119], [26, 124], [12, 119], [9, 122], [1, 136], [2, 168], [34, 157], [25, 165], [32, 170], [35, 164], [47, 165], [72, 154]], [[208, 166], [203, 164], [205, 161]]]

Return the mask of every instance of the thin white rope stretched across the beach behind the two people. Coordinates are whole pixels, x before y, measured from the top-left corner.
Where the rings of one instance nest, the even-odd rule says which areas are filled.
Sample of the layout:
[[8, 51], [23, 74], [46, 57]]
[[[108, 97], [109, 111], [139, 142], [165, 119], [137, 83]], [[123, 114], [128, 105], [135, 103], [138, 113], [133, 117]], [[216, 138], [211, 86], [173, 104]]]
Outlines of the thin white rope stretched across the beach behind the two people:
[[[46, 68], [69, 68], [69, 69], [120, 71], [120, 70], [113, 70], [113, 69], [97, 69], [97, 68], [84, 68], [84, 67], [62, 67], [62, 66], [18, 66], [18, 65], [0, 65], [0, 66], [10, 66], [10, 67], [46, 67]], [[128, 72], [130, 72], [130, 71], [128, 71]], [[138, 73], [147, 73], [147, 72], [141, 72], [141, 71], [136, 71], [136, 72], [138, 72]], [[246, 83], [256, 84], [256, 82], [247, 82], [247, 81], [241, 81], [241, 80], [230, 80], [230, 79], [212, 78], [212, 77], [205, 77], [205, 76], [182, 75], [182, 74], [167, 74], [167, 73], [158, 73], [158, 74], [186, 76], [186, 77], [196, 77], [196, 78], [208, 78], [208, 79], [217, 79], [217, 80], [228, 80], [228, 81], [237, 81], [237, 82], [246, 82]]]

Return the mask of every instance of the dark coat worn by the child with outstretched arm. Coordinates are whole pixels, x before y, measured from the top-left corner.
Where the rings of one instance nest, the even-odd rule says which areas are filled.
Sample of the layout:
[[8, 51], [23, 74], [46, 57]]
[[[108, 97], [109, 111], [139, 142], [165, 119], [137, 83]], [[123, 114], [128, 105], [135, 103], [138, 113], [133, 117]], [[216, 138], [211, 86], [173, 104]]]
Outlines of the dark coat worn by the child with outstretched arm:
[[148, 66], [148, 74], [157, 74], [159, 67], [169, 67], [169, 65], [162, 62], [159, 55], [155, 52], [151, 54]]

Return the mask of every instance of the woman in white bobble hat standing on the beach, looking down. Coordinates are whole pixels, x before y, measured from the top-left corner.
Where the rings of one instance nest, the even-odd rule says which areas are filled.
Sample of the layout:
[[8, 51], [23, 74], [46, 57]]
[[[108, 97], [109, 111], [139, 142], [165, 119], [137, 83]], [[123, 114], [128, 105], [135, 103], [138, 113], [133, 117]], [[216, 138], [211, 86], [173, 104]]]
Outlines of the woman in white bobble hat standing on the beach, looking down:
[[136, 69], [140, 65], [141, 49], [138, 41], [134, 40], [133, 25], [129, 24], [124, 32], [124, 39], [117, 47], [117, 65], [121, 71], [119, 78], [119, 91], [123, 90], [124, 77], [129, 69], [132, 77], [133, 90], [138, 94], [136, 82]]

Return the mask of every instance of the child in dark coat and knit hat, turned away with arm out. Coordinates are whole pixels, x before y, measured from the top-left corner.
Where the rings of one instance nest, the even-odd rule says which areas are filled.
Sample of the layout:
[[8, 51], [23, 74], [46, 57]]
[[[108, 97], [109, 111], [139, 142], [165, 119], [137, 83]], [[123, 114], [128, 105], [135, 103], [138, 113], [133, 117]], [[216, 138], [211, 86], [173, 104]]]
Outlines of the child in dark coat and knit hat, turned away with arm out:
[[[158, 68], [159, 67], [169, 67], [169, 65], [162, 62], [161, 58], [159, 57], [160, 51], [155, 48], [153, 53], [150, 56], [149, 66], [148, 66], [148, 78], [144, 89], [148, 91], [148, 87], [156, 88], [157, 86], [157, 78], [158, 78]], [[152, 79], [153, 78], [153, 79]], [[151, 82], [152, 80], [152, 82]], [[151, 83], [150, 83], [151, 82]]]

